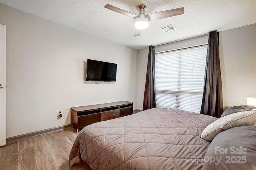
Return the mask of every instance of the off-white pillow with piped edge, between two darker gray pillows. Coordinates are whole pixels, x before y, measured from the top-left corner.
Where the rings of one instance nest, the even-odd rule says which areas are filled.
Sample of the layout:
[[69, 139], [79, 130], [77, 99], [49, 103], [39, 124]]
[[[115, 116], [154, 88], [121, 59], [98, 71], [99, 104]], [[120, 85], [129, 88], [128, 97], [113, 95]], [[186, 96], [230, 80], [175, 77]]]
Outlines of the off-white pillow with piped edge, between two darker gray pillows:
[[222, 131], [232, 127], [255, 125], [255, 122], [256, 110], [233, 113], [212, 122], [204, 129], [201, 137], [207, 141], [212, 141]]

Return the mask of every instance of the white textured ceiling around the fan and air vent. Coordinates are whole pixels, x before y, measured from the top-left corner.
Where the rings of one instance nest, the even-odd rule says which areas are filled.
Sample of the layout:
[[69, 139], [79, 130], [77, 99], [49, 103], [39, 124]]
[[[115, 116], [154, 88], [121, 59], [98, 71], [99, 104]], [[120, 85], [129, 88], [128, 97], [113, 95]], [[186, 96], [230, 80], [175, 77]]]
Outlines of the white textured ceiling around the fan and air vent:
[[[75, 29], [142, 49], [212, 30], [224, 31], [256, 23], [256, 0], [1, 0], [2, 4]], [[184, 14], [150, 21], [148, 29], [134, 37], [134, 20], [104, 8], [106, 4], [138, 14], [184, 7]], [[160, 27], [177, 29], [164, 33]]]

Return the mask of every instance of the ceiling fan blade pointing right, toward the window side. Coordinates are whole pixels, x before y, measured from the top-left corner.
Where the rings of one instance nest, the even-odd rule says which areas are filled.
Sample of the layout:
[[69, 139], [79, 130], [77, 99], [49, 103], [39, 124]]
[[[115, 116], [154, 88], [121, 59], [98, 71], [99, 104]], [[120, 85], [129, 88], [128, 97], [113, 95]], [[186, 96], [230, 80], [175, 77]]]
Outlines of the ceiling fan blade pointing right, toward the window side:
[[184, 14], [184, 7], [151, 13], [151, 14], [146, 15], [146, 17], [149, 18], [150, 21], [152, 21], [152, 20], [158, 20], [158, 19], [162, 19], [162, 18], [177, 16], [177, 15], [181, 15], [181, 14]]

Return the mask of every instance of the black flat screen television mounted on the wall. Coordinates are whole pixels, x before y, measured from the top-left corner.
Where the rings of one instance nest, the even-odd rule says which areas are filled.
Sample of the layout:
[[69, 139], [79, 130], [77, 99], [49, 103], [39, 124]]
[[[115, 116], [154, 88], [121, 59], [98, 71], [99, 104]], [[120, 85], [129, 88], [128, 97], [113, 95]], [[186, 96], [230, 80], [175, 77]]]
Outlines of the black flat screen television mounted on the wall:
[[117, 64], [87, 60], [86, 81], [115, 82]]

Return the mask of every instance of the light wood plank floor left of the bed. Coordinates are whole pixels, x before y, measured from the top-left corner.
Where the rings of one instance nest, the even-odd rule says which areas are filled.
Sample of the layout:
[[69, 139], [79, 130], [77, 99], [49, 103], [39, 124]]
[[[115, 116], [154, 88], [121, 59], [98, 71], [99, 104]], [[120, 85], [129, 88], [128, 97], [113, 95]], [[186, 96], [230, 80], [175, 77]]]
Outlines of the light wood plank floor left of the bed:
[[0, 170], [91, 170], [84, 161], [69, 166], [76, 129], [64, 129], [0, 147]]

